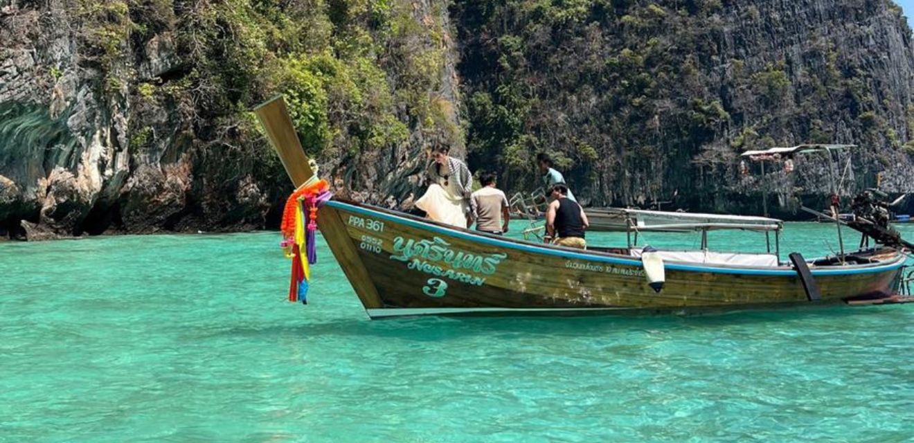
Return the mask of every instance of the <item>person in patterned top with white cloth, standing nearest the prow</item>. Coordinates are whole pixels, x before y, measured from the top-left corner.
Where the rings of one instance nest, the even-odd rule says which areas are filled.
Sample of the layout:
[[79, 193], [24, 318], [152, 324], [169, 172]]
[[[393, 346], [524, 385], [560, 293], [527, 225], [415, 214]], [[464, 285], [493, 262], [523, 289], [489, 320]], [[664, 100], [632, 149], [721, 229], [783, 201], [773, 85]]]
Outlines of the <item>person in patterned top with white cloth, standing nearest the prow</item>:
[[416, 207], [429, 218], [455, 227], [471, 227], [470, 195], [473, 191], [473, 174], [459, 159], [448, 153], [450, 148], [437, 145], [431, 149], [431, 160], [426, 174], [429, 189], [416, 201]]

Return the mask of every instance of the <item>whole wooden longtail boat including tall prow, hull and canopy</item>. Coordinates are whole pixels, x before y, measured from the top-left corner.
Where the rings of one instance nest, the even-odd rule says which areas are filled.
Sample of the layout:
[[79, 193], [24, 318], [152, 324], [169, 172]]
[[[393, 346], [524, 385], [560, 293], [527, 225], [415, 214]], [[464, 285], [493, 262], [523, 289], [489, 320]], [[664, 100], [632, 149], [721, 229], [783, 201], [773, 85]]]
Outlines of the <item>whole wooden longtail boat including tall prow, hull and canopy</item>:
[[[301, 189], [313, 183], [314, 167], [303, 153], [282, 98], [255, 112], [293, 184]], [[627, 228], [645, 229], [650, 227], [639, 220], [663, 213], [622, 210], [612, 216]], [[781, 261], [777, 248], [772, 253], [769, 247], [763, 254], [715, 253], [704, 248], [704, 241], [697, 251], [654, 252], [631, 242], [620, 248], [582, 250], [484, 234], [337, 198], [321, 206], [316, 218], [372, 319], [911, 301], [898, 295], [906, 259], [898, 248], [866, 248], [813, 260], [792, 253], [790, 261]], [[679, 222], [654, 225], [658, 230], [701, 232], [739, 228], [777, 233], [781, 227], [780, 220], [767, 217], [713, 215], [680, 216]], [[651, 266], [646, 266], [649, 261]], [[652, 269], [656, 263], [661, 267], [659, 284], [657, 269]]]

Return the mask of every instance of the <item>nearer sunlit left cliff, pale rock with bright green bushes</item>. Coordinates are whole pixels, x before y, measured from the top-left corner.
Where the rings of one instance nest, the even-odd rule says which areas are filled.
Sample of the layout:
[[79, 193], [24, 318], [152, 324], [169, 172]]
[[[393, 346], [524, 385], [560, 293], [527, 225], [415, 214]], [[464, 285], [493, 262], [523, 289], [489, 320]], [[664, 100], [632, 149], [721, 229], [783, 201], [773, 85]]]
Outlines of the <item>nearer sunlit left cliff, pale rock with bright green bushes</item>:
[[0, 234], [276, 225], [277, 91], [324, 176], [408, 198], [430, 139], [462, 152], [455, 51], [441, 2], [382, 3], [0, 0]]

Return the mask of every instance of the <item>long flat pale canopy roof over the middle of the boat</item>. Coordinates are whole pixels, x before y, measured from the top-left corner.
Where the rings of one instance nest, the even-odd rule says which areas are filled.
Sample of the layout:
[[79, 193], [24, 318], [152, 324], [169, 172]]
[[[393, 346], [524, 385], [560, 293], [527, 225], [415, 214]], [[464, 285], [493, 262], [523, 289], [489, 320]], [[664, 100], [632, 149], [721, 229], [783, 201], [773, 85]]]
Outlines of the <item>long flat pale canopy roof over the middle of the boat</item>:
[[764, 216], [729, 216], [689, 212], [648, 211], [616, 207], [588, 208], [590, 226], [600, 231], [709, 231], [743, 229], [780, 231], [783, 221]]

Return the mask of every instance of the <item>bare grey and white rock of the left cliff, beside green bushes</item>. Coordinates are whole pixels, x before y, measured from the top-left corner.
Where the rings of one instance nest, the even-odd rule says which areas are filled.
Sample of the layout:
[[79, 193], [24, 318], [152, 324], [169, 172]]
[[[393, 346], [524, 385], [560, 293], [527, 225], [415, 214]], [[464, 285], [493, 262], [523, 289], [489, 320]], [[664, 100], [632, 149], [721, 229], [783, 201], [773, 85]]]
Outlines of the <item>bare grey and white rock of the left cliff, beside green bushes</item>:
[[[193, 192], [208, 178], [193, 174], [198, 139], [180, 103], [143, 100], [136, 86], [181, 69], [184, 60], [167, 32], [140, 46], [129, 32], [117, 33], [123, 18], [91, 27], [89, 7], [0, 2], [0, 228], [44, 238], [262, 226], [268, 203], [250, 177], [220, 198], [238, 213], [210, 219], [223, 211], [203, 209], [199, 223], [181, 226], [197, 212], [192, 204], [208, 200]], [[100, 53], [102, 35], [111, 47]], [[135, 121], [148, 133], [137, 133]], [[153, 134], [148, 149], [131, 149]]]

